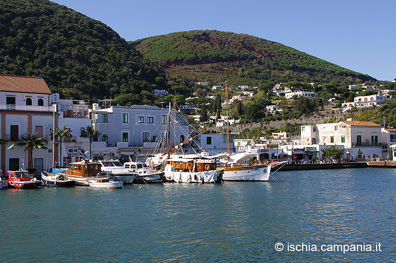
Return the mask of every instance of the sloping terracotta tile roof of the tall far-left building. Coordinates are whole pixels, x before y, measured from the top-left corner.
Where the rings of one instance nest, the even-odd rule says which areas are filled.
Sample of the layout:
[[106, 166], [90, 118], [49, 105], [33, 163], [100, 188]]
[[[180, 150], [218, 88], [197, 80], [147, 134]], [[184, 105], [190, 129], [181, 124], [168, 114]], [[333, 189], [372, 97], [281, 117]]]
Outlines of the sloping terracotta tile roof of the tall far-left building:
[[0, 91], [51, 94], [44, 78], [0, 74]]

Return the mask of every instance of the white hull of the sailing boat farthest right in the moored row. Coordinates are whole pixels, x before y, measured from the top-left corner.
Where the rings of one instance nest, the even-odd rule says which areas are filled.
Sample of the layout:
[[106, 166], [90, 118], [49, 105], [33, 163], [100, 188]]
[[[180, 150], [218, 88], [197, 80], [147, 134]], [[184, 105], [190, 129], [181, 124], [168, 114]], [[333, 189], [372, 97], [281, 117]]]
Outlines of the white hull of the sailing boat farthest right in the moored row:
[[240, 166], [224, 169], [224, 181], [264, 181], [269, 180], [271, 165], [268, 166]]

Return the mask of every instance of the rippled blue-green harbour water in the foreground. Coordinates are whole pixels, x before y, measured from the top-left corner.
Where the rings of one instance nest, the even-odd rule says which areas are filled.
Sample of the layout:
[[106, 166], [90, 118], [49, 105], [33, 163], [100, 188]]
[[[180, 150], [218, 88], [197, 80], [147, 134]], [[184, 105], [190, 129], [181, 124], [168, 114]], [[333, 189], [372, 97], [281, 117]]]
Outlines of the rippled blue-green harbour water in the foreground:
[[[0, 262], [396, 261], [396, 169], [274, 176], [0, 190]], [[333, 245], [364, 251], [312, 251]]]

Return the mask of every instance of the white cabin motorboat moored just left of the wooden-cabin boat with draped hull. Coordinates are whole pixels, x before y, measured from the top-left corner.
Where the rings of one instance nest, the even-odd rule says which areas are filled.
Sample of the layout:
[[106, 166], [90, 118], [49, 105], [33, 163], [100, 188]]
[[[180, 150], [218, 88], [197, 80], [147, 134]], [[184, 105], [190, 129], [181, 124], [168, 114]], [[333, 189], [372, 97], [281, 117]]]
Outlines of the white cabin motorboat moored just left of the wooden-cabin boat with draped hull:
[[135, 182], [137, 183], [161, 183], [164, 172], [148, 168], [144, 162], [126, 162], [124, 167], [136, 173]]

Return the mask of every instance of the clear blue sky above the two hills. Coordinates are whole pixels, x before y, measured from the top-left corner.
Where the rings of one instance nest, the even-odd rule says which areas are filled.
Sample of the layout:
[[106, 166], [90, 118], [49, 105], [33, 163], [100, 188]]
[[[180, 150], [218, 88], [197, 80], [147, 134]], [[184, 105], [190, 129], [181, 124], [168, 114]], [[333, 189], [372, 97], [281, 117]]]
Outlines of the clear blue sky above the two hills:
[[396, 0], [54, 0], [125, 40], [190, 30], [265, 38], [368, 74], [396, 78]]

